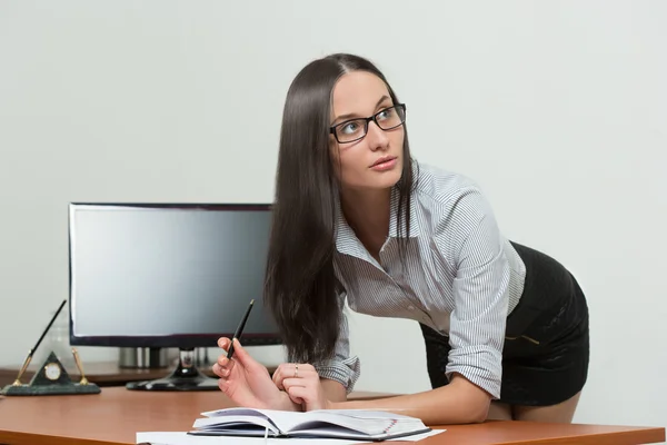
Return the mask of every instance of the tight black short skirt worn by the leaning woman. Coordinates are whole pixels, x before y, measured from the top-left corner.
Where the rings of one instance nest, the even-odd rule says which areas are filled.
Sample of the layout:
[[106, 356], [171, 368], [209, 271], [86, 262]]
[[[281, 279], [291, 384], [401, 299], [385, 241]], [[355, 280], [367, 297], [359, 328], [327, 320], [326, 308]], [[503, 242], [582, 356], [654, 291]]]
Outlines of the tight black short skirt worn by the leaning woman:
[[[500, 399], [549, 406], [576, 395], [588, 377], [588, 306], [575, 277], [558, 261], [512, 243], [526, 265], [524, 294], [507, 318]], [[445, 376], [449, 338], [420, 325], [434, 388]]]

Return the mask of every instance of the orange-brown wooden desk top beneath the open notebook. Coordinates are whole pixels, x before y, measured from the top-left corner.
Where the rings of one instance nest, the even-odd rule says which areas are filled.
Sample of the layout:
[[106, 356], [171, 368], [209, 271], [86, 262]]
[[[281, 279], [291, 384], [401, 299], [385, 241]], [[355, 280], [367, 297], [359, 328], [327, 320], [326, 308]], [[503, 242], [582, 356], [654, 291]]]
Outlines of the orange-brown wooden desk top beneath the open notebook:
[[[376, 398], [355, 393], [355, 398]], [[189, 431], [199, 413], [231, 406], [218, 392], [150, 393], [123, 387], [84, 396], [0, 398], [0, 444], [135, 444], [137, 432]], [[437, 426], [436, 426], [437, 427]], [[665, 428], [488, 422], [442, 426], [422, 443], [437, 444], [648, 444], [665, 441]], [[394, 442], [388, 442], [388, 444]]]

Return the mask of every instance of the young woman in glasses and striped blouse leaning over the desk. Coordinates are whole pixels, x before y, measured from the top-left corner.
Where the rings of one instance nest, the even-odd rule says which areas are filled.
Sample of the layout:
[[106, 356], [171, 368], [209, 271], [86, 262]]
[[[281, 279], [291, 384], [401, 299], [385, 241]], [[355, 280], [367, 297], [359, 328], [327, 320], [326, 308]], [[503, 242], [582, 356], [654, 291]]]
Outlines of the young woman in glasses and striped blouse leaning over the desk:
[[[220, 388], [276, 409], [570, 422], [588, 370], [581, 289], [556, 260], [507, 240], [474, 181], [411, 159], [405, 122], [406, 106], [364, 58], [332, 55], [296, 77], [265, 296], [290, 363], [271, 377], [235, 340], [233, 358], [213, 366]], [[420, 324], [434, 389], [346, 400], [360, 369], [346, 298], [356, 312]], [[228, 350], [230, 339], [218, 344]], [[387, 366], [400, 373], [400, 357]]]

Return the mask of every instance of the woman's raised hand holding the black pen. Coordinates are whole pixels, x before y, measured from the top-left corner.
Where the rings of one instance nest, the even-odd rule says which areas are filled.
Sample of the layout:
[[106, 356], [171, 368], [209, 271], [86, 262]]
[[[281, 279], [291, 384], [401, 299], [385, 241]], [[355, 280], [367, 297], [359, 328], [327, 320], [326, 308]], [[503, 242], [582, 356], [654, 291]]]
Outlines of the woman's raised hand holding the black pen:
[[[220, 338], [218, 346], [229, 350], [229, 338]], [[232, 402], [250, 408], [301, 411], [290, 397], [278, 389], [266, 367], [250, 357], [238, 339], [233, 343], [233, 357], [220, 355], [213, 373], [220, 377], [218, 386]]]

